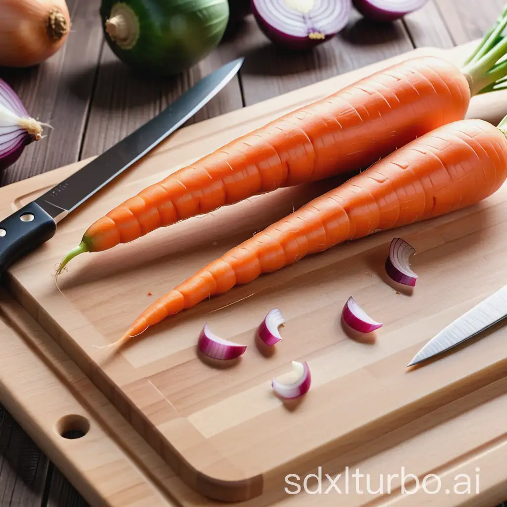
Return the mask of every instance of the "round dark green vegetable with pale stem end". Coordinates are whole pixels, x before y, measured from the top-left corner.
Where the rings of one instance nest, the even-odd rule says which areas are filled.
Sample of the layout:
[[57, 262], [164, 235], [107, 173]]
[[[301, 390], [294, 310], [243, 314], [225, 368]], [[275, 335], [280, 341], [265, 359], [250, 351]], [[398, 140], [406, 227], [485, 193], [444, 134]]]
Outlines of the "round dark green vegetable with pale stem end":
[[172, 76], [220, 43], [227, 0], [102, 0], [102, 27], [118, 58], [136, 71]]

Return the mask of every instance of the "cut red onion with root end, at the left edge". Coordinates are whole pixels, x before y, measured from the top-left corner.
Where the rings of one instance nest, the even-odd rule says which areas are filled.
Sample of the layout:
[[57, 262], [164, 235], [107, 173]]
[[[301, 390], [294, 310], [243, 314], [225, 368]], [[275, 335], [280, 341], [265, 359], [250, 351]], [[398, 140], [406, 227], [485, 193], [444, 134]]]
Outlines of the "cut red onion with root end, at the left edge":
[[14, 164], [27, 144], [41, 139], [42, 125], [30, 118], [14, 90], [0, 79], [0, 169]]

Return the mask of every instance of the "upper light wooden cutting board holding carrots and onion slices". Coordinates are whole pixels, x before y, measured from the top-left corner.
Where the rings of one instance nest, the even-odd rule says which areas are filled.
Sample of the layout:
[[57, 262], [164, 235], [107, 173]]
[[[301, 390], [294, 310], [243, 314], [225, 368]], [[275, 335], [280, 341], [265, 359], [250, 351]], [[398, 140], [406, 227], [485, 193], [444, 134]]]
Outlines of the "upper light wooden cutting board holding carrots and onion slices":
[[[382, 266], [393, 233], [378, 234], [202, 303], [113, 355], [95, 345], [115, 341], [153, 298], [337, 182], [282, 189], [82, 256], [60, 277], [61, 293], [55, 264], [98, 216], [232, 138], [394, 61], [421, 53], [458, 61], [468, 50], [419, 50], [182, 129], [10, 270], [16, 298], [194, 490], [223, 500], [266, 494], [286, 474], [361, 448], [500, 381], [501, 330], [424, 368], [407, 372], [405, 365], [434, 332], [502, 284], [505, 190], [480, 206], [396, 231], [418, 251], [413, 265], [420, 280], [412, 295], [386, 284]], [[504, 112], [496, 105], [502, 94], [495, 95], [475, 98], [469, 116], [496, 122]], [[81, 165], [56, 171], [53, 179]], [[52, 186], [46, 176], [0, 189], [3, 214]], [[338, 325], [351, 294], [384, 322], [375, 343], [353, 341]], [[254, 337], [273, 306], [286, 319], [284, 340], [265, 357]], [[217, 370], [196, 357], [205, 321], [249, 345], [234, 368]], [[309, 361], [313, 383], [302, 403], [286, 407], [270, 381], [293, 359]]]

